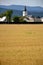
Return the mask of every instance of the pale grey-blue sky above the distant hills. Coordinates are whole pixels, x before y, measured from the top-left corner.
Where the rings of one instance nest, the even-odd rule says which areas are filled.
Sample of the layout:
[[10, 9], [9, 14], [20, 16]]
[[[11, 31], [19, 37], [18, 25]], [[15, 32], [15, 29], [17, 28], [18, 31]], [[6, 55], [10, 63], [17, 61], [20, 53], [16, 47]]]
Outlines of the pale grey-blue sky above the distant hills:
[[0, 5], [27, 5], [43, 7], [43, 0], [0, 0]]

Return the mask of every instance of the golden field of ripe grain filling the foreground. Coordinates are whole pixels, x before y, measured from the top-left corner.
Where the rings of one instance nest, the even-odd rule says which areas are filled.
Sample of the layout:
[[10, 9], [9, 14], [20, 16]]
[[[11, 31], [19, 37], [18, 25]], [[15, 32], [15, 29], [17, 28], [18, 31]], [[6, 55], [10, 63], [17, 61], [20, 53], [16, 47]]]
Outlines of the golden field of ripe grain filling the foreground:
[[43, 24], [0, 25], [0, 65], [43, 65]]

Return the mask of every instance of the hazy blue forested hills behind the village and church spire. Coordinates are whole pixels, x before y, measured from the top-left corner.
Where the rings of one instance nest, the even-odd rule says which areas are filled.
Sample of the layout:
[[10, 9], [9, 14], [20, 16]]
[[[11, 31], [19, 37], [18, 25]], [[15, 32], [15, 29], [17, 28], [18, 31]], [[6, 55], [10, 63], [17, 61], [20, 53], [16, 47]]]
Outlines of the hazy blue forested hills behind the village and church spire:
[[[21, 5], [9, 5], [4, 6], [0, 5], [0, 13], [5, 12], [6, 10], [13, 10], [13, 16], [22, 16], [22, 11], [24, 10], [24, 6]], [[27, 6], [28, 15], [33, 16], [43, 16], [43, 8], [42, 7], [30, 7]]]

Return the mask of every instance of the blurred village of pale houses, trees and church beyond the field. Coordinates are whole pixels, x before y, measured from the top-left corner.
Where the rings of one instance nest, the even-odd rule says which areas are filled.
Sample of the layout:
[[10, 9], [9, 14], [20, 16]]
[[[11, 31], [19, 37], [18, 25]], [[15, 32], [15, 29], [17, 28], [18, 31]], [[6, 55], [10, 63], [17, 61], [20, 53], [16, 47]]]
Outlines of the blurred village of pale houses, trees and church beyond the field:
[[[14, 16], [14, 18], [11, 18], [11, 12], [7, 12], [8, 15], [0, 17], [0, 23], [31, 23], [31, 22], [43, 22], [43, 17], [34, 17], [33, 15], [28, 15], [26, 6], [24, 7], [24, 10], [22, 12], [22, 16]], [[10, 14], [11, 13], [11, 14]]]

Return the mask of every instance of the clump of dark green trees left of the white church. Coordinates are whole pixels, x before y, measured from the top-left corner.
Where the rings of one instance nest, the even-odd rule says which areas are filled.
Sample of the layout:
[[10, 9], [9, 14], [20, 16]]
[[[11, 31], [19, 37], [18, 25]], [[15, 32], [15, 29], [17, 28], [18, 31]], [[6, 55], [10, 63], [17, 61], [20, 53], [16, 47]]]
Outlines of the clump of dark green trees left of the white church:
[[26, 22], [26, 21], [23, 20], [24, 17], [22, 17], [22, 16], [12, 17], [12, 14], [13, 14], [12, 10], [7, 10], [6, 12], [2, 13], [0, 15], [0, 17], [6, 16], [6, 19], [7, 19], [8, 23], [11, 23], [11, 22], [13, 22], [13, 23]]

